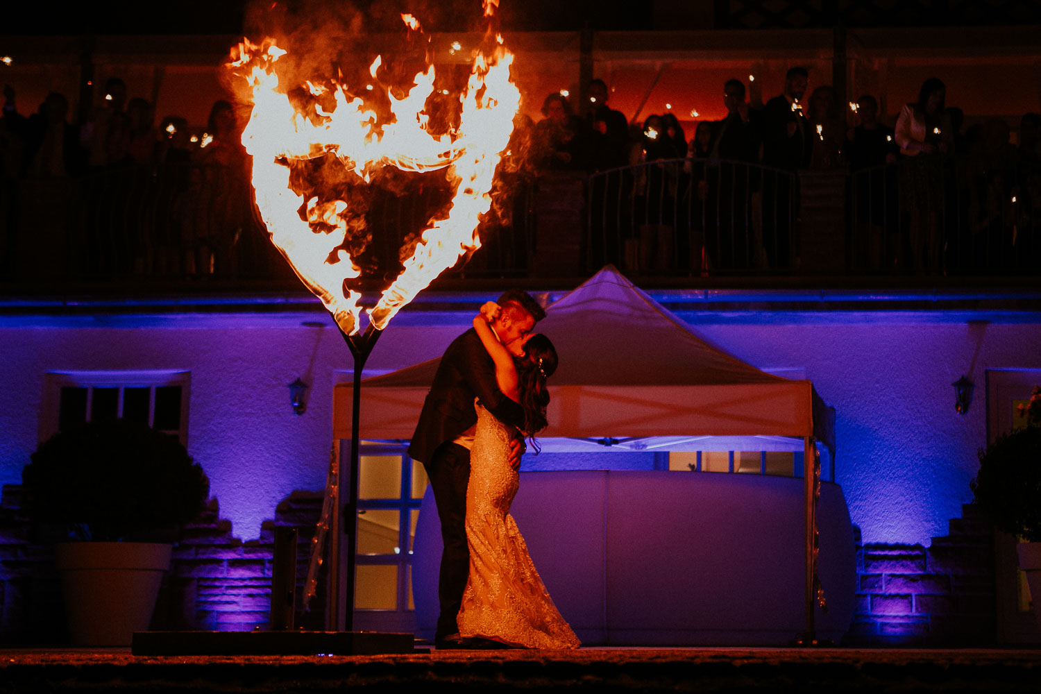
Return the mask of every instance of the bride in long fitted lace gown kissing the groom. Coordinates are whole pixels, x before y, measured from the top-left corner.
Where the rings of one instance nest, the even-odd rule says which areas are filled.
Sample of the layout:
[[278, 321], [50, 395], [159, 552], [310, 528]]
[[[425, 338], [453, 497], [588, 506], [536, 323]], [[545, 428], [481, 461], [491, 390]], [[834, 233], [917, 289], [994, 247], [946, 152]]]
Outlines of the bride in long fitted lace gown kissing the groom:
[[[532, 437], [547, 427], [545, 379], [557, 368], [557, 353], [538, 333], [513, 341], [509, 349], [502, 344], [488, 327], [498, 312], [497, 304], [485, 304], [474, 318], [474, 329], [496, 363], [499, 388], [524, 408], [524, 434]], [[520, 648], [578, 648], [578, 637], [550, 598], [509, 514], [519, 485], [517, 471], [507, 462], [511, 432], [479, 403], [476, 407], [466, 489], [469, 575], [459, 634]]]

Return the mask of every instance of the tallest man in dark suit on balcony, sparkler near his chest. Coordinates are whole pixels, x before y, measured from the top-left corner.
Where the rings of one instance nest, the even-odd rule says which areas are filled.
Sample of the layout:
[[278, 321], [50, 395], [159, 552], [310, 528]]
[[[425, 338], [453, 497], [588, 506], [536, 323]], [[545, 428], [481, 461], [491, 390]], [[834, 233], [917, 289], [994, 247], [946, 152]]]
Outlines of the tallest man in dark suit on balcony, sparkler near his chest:
[[763, 164], [790, 174], [764, 172], [762, 237], [770, 267], [786, 269], [792, 261], [791, 229], [797, 202], [793, 174], [810, 161], [813, 133], [803, 113], [809, 85], [806, 68], [791, 68], [784, 92], [766, 102], [762, 112]]

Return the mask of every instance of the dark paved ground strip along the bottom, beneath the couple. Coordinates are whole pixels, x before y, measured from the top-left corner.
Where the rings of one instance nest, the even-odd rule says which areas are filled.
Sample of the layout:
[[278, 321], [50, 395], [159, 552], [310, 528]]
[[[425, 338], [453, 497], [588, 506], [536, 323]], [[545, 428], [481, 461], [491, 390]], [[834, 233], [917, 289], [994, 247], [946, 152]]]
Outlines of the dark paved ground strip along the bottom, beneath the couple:
[[353, 657], [0, 650], [7, 692], [1032, 692], [1041, 650], [583, 648]]

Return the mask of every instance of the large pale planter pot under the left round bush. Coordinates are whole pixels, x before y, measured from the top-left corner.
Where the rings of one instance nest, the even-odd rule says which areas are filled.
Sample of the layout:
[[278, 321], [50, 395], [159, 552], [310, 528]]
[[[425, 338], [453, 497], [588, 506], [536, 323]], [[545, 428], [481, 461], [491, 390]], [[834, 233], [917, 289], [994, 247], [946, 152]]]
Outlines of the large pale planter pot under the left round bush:
[[151, 542], [55, 545], [73, 644], [129, 646], [134, 632], [146, 631], [171, 549]]

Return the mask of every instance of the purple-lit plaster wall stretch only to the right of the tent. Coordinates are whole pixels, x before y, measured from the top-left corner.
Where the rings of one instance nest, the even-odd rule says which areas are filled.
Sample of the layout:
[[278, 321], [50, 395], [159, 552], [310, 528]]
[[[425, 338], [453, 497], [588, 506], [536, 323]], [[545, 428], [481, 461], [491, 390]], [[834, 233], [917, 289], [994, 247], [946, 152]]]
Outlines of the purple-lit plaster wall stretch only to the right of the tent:
[[[972, 499], [986, 444], [988, 368], [1041, 366], [1041, 327], [962, 324], [696, 325], [761, 368], [805, 367], [836, 409], [836, 481], [864, 542], [947, 534]], [[951, 383], [975, 383], [965, 415]]]

